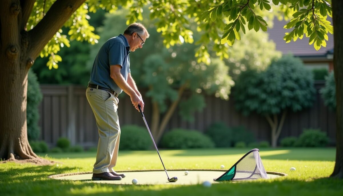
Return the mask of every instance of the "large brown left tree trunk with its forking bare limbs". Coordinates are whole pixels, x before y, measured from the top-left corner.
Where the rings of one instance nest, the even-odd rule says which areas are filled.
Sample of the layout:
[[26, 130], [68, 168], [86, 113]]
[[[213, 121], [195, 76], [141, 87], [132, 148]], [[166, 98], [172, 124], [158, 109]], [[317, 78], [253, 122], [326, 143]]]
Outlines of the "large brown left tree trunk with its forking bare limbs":
[[27, 73], [39, 52], [85, 0], [57, 0], [30, 33], [33, 0], [0, 3], [0, 158], [38, 159], [27, 140]]

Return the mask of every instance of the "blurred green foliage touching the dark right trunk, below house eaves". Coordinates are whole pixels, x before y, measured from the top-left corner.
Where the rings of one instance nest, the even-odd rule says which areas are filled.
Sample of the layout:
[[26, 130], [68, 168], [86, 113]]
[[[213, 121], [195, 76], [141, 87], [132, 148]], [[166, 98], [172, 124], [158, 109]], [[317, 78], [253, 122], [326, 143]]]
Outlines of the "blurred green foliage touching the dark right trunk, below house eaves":
[[324, 103], [330, 110], [336, 110], [336, 83], [333, 72], [325, 78], [325, 86], [319, 90]]

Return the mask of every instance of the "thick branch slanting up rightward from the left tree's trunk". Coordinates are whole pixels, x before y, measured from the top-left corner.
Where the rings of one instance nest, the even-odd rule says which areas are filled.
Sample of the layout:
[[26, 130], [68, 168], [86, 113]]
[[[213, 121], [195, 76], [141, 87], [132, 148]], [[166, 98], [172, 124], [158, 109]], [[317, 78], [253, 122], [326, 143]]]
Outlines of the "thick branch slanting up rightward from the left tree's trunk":
[[85, 0], [57, 0], [43, 19], [29, 33], [28, 56], [36, 59], [40, 51]]

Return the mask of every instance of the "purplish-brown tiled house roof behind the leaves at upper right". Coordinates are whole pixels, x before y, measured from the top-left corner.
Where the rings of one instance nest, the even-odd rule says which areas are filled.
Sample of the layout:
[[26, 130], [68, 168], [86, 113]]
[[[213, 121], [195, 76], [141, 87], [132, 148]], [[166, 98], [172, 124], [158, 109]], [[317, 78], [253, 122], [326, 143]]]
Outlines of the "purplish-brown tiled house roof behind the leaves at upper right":
[[[332, 24], [332, 18], [328, 17], [328, 20]], [[297, 39], [296, 41], [286, 43], [283, 39], [286, 32], [291, 32], [293, 29], [283, 28], [288, 22], [279, 21], [274, 19], [273, 28], [268, 29], [269, 39], [273, 40], [276, 44], [276, 50], [281, 51], [283, 54], [292, 52], [297, 57], [324, 57], [327, 52], [332, 53], [333, 50], [333, 35], [328, 33], [329, 40], [326, 41], [326, 47], [321, 47], [318, 51], [312, 45], [308, 44], [309, 38], [304, 35], [303, 39]]]

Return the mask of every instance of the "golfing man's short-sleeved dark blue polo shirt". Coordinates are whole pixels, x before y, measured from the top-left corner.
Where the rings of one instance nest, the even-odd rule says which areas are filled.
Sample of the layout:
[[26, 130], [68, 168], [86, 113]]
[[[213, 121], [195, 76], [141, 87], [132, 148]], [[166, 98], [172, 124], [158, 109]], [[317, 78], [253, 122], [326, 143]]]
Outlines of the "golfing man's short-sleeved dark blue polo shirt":
[[109, 88], [120, 94], [123, 90], [110, 77], [110, 66], [120, 65], [120, 73], [127, 81], [130, 72], [129, 54], [129, 42], [124, 35], [119, 34], [107, 40], [96, 55], [88, 84]]

